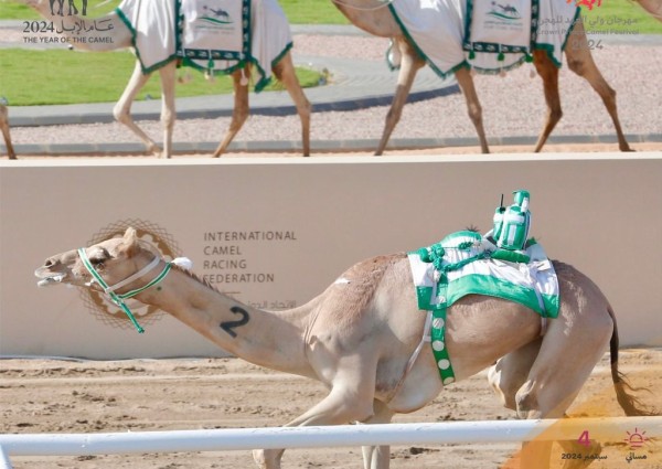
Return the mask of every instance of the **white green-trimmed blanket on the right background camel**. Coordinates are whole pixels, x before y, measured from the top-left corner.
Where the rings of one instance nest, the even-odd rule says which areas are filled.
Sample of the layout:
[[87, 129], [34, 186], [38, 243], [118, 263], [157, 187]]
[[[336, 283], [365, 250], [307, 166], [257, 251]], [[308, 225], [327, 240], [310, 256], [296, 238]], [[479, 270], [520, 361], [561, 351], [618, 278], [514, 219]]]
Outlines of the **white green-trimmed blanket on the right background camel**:
[[[557, 66], [579, 9], [562, 0], [394, 0], [391, 12], [441, 77], [500, 73], [544, 50]], [[392, 66], [398, 66], [397, 58]]]

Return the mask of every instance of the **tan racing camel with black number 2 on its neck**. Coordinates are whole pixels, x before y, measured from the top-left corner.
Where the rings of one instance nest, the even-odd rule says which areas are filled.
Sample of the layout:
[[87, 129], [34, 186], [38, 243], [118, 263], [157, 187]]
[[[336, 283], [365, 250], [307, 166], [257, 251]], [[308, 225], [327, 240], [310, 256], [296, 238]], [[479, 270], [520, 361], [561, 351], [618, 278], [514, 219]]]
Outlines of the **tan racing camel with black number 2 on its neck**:
[[[35, 275], [42, 286], [62, 283], [132, 296], [250, 363], [322, 382], [328, 396], [288, 426], [385, 424], [396, 413], [425, 406], [442, 388], [431, 348], [415, 358], [426, 315], [418, 310], [404, 253], [363, 260], [307, 305], [278, 312], [242, 305], [157, 253], [129, 227], [121, 237], [49, 257]], [[609, 347], [619, 404], [627, 415], [647, 414], [618, 371], [609, 302], [574, 267], [555, 262], [554, 268], [560, 309], [542, 339], [540, 316], [520, 303], [472, 295], [448, 309], [446, 347], [456, 379], [505, 356], [490, 376], [506, 406], [522, 418], [563, 417]], [[580, 452], [576, 441], [560, 444], [566, 452]], [[551, 445], [526, 444], [521, 467], [547, 468]], [[254, 458], [261, 468], [277, 469], [282, 452], [258, 450]], [[389, 447], [364, 447], [363, 457], [365, 468], [388, 468]], [[583, 467], [566, 462], [566, 469]]]

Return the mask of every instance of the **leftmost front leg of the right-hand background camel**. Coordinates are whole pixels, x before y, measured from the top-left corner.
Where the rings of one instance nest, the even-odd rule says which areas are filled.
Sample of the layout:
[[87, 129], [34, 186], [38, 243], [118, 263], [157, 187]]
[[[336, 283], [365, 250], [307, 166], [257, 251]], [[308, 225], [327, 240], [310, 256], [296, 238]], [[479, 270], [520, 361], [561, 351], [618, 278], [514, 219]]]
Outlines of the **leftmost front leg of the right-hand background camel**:
[[412, 85], [414, 85], [416, 73], [425, 65], [425, 62], [408, 43], [398, 41], [398, 46], [401, 47], [402, 62], [399, 74], [397, 76], [397, 87], [395, 88], [395, 96], [393, 97], [391, 109], [388, 109], [388, 114], [386, 115], [384, 131], [382, 132], [382, 139], [375, 151], [375, 157], [384, 153], [391, 134], [393, 134], [395, 126], [399, 121], [403, 114], [403, 107], [405, 106], [405, 103], [407, 103], [407, 96], [409, 96]]

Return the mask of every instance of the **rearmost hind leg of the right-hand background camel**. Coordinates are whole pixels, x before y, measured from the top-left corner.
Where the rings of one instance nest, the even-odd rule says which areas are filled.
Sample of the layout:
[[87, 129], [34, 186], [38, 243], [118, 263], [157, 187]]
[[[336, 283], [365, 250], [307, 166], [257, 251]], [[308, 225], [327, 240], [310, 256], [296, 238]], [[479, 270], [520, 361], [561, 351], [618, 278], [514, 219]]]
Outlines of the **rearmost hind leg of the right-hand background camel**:
[[592, 88], [598, 93], [600, 98], [602, 98], [602, 103], [605, 103], [605, 107], [607, 108], [607, 111], [613, 121], [613, 127], [616, 128], [618, 148], [621, 151], [633, 151], [626, 140], [626, 136], [623, 135], [620, 120], [618, 118], [618, 111], [616, 108], [616, 92], [609, 86], [605, 77], [602, 77], [602, 74], [594, 62], [581, 19], [577, 19], [577, 23], [573, 28], [573, 32], [570, 33], [568, 43], [565, 47], [565, 54], [568, 61], [568, 67], [577, 75], [586, 78], [590, 86], [592, 86]]

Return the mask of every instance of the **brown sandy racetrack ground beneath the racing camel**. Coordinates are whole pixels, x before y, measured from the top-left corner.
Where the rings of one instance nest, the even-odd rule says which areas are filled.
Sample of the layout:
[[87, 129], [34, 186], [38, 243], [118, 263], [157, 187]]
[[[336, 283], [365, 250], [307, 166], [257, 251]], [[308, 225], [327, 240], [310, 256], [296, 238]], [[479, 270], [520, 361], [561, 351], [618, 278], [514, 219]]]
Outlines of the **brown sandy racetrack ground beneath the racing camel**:
[[[662, 351], [623, 350], [621, 369], [633, 385], [659, 390]], [[562, 365], [559, 361], [559, 365]], [[1, 433], [106, 433], [279, 426], [324, 396], [317, 382], [271, 372], [237, 359], [131, 361], [0, 361]], [[660, 393], [641, 393], [662, 407]], [[594, 370], [570, 408], [572, 416], [622, 416], [611, 387], [608, 359]], [[395, 422], [514, 418], [501, 407], [484, 373], [445, 390], [430, 405]], [[632, 431], [636, 431], [632, 425]], [[638, 428], [639, 433], [645, 428]], [[623, 440], [605, 444], [591, 468], [662, 468], [660, 444], [645, 441], [628, 463]], [[392, 468], [483, 469], [517, 467], [516, 445], [393, 447]], [[560, 467], [560, 447], [552, 460]], [[15, 468], [250, 468], [249, 451], [127, 456], [12, 457]], [[360, 448], [288, 450], [284, 468], [362, 468]]]

